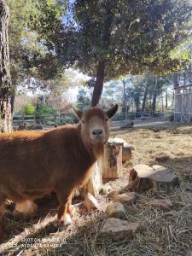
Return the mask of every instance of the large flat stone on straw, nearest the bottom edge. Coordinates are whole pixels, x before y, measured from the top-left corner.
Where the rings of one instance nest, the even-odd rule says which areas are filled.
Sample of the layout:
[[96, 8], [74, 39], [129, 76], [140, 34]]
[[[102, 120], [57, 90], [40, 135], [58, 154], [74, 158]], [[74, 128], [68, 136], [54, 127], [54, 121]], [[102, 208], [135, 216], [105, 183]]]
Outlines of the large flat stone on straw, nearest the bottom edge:
[[137, 231], [143, 230], [143, 226], [138, 223], [130, 223], [119, 218], [108, 218], [102, 225], [100, 236], [114, 241], [131, 240]]

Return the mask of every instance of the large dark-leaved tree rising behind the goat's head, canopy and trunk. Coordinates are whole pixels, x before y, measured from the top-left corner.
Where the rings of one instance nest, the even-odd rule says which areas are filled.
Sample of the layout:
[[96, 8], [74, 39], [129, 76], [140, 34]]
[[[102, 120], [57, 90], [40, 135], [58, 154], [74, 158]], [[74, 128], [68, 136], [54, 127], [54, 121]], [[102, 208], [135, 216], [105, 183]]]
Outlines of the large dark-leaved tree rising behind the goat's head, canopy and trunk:
[[91, 101], [96, 106], [104, 81], [146, 69], [159, 73], [177, 69], [179, 61], [172, 60], [170, 53], [189, 36], [191, 4], [188, 0], [77, 0], [71, 16], [68, 22], [56, 22], [52, 15], [56, 26], [51, 26], [48, 16], [46, 22], [38, 16], [32, 24], [65, 65], [75, 64], [96, 77]]

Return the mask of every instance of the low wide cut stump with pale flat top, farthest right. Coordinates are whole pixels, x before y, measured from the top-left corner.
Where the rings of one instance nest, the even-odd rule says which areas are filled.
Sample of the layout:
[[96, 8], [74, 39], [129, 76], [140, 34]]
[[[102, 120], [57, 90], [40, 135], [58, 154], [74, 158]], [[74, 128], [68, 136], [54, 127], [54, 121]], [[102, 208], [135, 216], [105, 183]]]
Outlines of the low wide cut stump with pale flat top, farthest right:
[[153, 188], [169, 193], [176, 186], [179, 186], [178, 177], [166, 167], [137, 165], [130, 172], [128, 189], [144, 192]]

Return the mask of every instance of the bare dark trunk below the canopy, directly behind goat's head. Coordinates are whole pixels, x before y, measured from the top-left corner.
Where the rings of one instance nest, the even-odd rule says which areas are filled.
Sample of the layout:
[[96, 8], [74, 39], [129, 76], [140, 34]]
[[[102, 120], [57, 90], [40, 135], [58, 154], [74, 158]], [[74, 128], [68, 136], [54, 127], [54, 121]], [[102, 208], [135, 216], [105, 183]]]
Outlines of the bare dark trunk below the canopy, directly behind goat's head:
[[96, 107], [102, 96], [102, 87], [105, 77], [105, 61], [99, 61], [96, 73], [96, 84], [94, 86], [91, 107]]

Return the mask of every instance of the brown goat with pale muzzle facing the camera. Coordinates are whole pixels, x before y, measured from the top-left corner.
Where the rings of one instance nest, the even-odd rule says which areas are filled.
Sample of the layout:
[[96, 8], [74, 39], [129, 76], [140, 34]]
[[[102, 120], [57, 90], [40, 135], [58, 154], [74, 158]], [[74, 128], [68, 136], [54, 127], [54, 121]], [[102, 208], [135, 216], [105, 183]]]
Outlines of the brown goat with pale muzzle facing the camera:
[[34, 200], [55, 192], [59, 201], [58, 220], [70, 224], [71, 194], [90, 177], [90, 167], [108, 141], [108, 119], [118, 105], [79, 111], [79, 125], [52, 131], [15, 131], [0, 135], [0, 236], [5, 234], [4, 203], [14, 201], [15, 214], [32, 214]]

